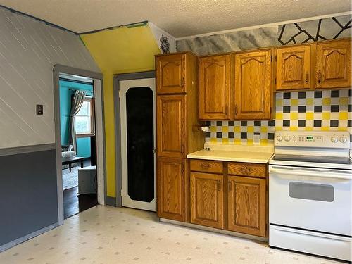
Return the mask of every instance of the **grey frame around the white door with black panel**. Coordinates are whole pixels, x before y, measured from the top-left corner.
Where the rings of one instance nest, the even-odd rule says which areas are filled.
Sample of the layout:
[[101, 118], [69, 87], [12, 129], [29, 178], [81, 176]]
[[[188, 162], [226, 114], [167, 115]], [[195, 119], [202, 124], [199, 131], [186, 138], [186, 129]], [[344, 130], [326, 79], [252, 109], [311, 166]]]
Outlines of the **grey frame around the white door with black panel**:
[[155, 78], [155, 70], [138, 73], [122, 73], [113, 77], [113, 98], [115, 109], [115, 182], [116, 207], [122, 207], [122, 158], [121, 158], [121, 113], [120, 113], [120, 81]]

